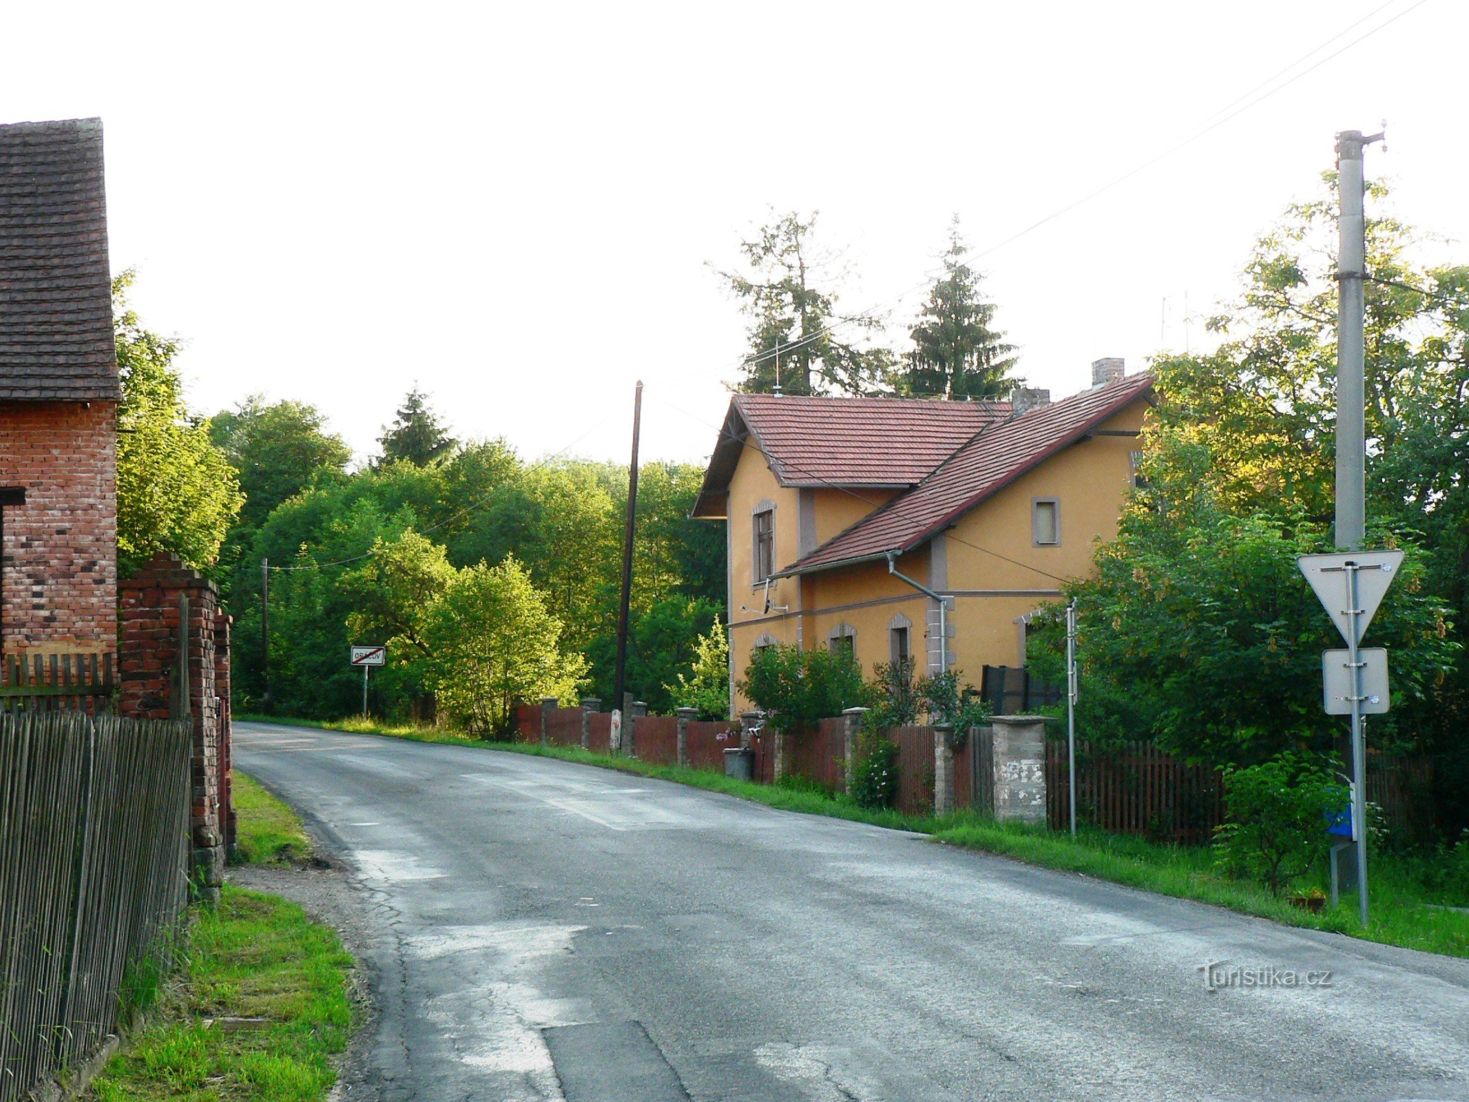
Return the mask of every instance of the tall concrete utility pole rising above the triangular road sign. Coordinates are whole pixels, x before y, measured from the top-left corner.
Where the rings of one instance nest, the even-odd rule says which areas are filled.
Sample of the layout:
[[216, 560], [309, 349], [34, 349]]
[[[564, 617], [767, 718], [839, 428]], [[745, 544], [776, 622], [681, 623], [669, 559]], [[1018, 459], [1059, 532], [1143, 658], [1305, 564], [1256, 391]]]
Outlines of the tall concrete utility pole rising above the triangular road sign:
[[1366, 539], [1366, 439], [1363, 382], [1363, 282], [1366, 222], [1362, 215], [1362, 150], [1382, 134], [1337, 135], [1337, 194], [1341, 203], [1337, 251], [1337, 547], [1359, 551]]

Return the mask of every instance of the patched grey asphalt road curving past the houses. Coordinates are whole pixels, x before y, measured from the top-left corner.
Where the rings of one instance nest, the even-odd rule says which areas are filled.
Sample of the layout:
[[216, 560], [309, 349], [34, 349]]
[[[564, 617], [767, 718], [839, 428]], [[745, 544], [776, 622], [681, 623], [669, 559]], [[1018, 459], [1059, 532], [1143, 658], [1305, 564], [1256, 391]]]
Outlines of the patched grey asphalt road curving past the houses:
[[364, 892], [385, 1099], [1469, 1099], [1469, 961], [561, 761], [237, 739]]

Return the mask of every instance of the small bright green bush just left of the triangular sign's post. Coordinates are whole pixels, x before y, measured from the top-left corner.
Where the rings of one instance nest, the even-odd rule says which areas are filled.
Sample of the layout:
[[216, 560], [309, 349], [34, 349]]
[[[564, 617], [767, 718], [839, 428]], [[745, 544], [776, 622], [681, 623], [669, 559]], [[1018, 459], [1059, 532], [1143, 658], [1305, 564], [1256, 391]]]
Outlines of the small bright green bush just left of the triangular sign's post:
[[1230, 820], [1215, 830], [1221, 868], [1255, 879], [1274, 895], [1327, 852], [1327, 814], [1347, 805], [1347, 788], [1321, 760], [1284, 752], [1224, 771]]

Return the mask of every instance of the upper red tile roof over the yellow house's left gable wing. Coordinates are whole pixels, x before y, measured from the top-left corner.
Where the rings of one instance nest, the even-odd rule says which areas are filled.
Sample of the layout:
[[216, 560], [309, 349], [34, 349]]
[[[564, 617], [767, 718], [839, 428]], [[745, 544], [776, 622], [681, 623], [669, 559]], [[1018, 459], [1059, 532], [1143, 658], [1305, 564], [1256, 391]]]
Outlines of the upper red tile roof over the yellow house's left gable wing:
[[723, 516], [746, 438], [783, 486], [906, 489], [1009, 413], [1006, 401], [736, 394], [693, 514]]

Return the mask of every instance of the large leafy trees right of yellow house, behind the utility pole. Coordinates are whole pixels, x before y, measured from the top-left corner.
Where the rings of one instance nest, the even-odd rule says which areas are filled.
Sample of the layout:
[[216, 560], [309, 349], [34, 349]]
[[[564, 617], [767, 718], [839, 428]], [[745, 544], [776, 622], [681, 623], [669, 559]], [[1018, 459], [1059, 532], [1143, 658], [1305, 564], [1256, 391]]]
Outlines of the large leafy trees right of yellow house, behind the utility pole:
[[[1215, 766], [1328, 754], [1321, 651], [1340, 647], [1296, 557], [1332, 550], [1335, 181], [1256, 244], [1210, 353], [1163, 354], [1140, 476], [1078, 608], [1078, 729]], [[1415, 231], [1369, 191], [1368, 542], [1407, 561], [1369, 636], [1390, 648], [1379, 751], [1434, 757], [1437, 818], [1469, 827], [1469, 267], [1415, 263]], [[1059, 610], [1031, 667], [1061, 682]]]

